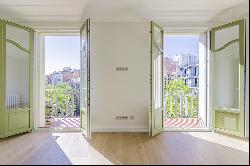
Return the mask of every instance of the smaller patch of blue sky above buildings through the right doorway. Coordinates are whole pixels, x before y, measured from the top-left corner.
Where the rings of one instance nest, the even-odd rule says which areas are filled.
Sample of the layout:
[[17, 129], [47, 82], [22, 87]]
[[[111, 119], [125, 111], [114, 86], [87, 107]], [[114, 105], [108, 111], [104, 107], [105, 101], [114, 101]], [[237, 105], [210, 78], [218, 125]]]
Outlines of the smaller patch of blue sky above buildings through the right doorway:
[[188, 52], [199, 54], [199, 35], [166, 35], [164, 37], [165, 56]]

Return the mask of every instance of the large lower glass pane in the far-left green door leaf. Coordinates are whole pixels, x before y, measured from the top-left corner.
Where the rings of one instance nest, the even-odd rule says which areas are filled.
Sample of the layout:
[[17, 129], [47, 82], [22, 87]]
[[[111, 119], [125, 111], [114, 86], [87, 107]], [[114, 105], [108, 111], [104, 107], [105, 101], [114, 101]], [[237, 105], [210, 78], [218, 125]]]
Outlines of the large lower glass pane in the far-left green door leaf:
[[29, 54], [6, 43], [6, 107], [29, 107]]

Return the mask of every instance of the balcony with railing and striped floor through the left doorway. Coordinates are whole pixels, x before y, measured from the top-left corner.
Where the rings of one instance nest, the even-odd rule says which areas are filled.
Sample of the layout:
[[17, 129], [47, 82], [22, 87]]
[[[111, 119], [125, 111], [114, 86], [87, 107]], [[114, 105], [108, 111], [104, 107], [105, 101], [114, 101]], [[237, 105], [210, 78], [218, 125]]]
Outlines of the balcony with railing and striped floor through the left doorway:
[[79, 93], [46, 89], [45, 94], [46, 128], [80, 127]]

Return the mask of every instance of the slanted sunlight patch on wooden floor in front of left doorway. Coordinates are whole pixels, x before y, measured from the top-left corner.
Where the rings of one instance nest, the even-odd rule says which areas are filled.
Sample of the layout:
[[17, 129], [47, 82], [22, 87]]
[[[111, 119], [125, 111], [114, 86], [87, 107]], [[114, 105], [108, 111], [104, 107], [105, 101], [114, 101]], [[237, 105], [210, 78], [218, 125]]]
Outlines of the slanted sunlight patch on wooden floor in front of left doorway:
[[52, 133], [52, 136], [72, 164], [113, 165], [95, 150], [79, 132]]

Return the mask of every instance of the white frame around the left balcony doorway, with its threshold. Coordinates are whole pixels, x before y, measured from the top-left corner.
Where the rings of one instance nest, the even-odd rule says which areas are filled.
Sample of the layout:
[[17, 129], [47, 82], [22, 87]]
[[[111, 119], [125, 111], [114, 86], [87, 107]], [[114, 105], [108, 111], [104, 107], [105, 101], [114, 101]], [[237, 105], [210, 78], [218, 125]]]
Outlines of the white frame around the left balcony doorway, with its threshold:
[[80, 128], [66, 127], [62, 129], [44, 128], [45, 126], [45, 37], [46, 36], [80, 36], [79, 30], [46, 29], [35, 31], [34, 44], [34, 129], [42, 131], [80, 131]]

